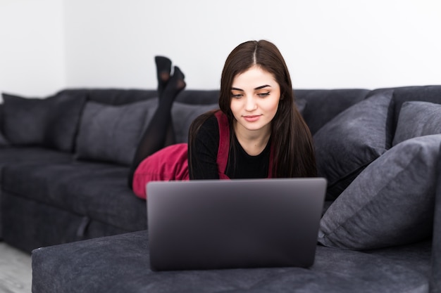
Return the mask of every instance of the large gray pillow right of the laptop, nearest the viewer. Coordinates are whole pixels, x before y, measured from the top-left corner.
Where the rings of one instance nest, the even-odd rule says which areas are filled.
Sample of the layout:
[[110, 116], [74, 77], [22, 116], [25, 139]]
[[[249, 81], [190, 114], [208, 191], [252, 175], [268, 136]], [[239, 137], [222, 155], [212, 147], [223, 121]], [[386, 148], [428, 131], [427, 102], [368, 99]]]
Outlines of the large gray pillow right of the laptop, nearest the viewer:
[[395, 145], [370, 164], [330, 205], [318, 241], [375, 249], [430, 237], [441, 134]]

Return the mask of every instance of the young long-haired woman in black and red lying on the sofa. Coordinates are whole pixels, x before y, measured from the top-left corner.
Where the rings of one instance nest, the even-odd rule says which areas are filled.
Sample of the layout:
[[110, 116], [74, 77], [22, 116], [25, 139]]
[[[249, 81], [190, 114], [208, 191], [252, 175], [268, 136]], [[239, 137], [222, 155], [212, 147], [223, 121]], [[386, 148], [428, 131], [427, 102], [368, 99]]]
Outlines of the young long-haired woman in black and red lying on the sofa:
[[[183, 75], [173, 74], [168, 84], [180, 89], [178, 81], [183, 83]], [[146, 198], [146, 184], [157, 180], [316, 176], [311, 134], [294, 104], [290, 74], [274, 44], [247, 41], [230, 53], [219, 106], [194, 120], [188, 152], [187, 144], [170, 145], [136, 166], [132, 182], [137, 196]], [[148, 132], [143, 140], [154, 137]]]

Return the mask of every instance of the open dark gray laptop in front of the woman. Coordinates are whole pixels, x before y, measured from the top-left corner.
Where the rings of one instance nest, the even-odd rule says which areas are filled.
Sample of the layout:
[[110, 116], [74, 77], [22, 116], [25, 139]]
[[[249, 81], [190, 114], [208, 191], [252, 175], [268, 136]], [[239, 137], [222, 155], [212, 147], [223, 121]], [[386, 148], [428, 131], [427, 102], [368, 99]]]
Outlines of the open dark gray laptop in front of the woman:
[[147, 184], [154, 271], [312, 266], [324, 178]]

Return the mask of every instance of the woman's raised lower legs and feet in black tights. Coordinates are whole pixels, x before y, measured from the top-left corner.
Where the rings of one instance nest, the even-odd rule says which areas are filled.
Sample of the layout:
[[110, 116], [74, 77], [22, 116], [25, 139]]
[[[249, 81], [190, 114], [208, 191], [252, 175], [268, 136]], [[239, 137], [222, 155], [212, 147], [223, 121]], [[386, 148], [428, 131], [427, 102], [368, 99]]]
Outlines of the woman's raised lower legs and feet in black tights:
[[185, 88], [184, 74], [175, 66], [170, 76], [171, 61], [162, 56], [155, 57], [158, 77], [159, 103], [149, 126], [142, 134], [128, 176], [128, 185], [132, 188], [133, 174], [138, 165], [149, 155], [175, 143], [171, 108], [178, 93]]

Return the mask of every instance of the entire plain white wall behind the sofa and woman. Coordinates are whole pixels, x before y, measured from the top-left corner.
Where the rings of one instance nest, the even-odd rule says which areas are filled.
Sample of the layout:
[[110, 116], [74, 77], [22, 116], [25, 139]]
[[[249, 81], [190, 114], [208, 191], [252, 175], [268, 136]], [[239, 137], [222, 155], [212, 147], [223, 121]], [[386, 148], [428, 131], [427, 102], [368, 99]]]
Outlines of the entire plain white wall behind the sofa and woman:
[[295, 88], [441, 84], [437, 0], [0, 3], [1, 27], [15, 23], [0, 29], [2, 44], [14, 41], [0, 49], [0, 91], [151, 89], [158, 54], [181, 67], [188, 89], [217, 89], [228, 53], [249, 39], [280, 48]]

